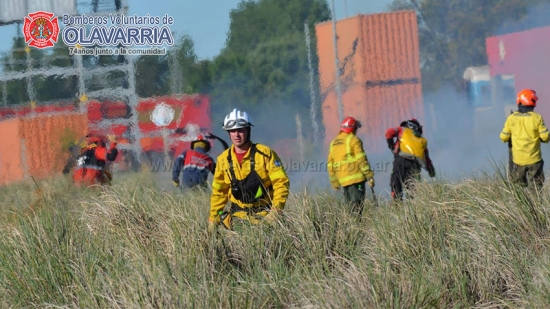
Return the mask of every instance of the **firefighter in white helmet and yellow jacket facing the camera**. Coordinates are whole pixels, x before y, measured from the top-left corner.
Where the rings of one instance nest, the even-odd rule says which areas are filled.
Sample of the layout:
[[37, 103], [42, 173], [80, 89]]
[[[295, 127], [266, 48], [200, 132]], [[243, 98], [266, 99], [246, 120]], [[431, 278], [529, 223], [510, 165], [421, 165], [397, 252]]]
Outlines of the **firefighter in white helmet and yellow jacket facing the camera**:
[[[285, 208], [289, 179], [281, 159], [269, 147], [250, 140], [250, 116], [233, 109], [225, 116], [223, 129], [232, 146], [216, 162], [210, 200], [209, 231], [222, 223], [232, 229], [232, 219], [257, 224], [273, 222]], [[227, 203], [229, 209], [225, 210]]]

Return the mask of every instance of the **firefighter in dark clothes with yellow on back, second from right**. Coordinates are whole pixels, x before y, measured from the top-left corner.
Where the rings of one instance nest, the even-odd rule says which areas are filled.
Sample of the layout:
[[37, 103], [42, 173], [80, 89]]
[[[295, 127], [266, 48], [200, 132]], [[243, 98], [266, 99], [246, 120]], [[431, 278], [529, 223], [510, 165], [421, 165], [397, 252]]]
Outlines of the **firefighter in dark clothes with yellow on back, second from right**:
[[430, 177], [435, 177], [428, 141], [422, 134], [422, 126], [414, 118], [401, 122], [397, 128], [386, 130], [388, 148], [394, 155], [390, 175], [391, 196], [394, 200], [403, 199], [403, 187], [407, 189], [408, 195], [412, 192], [414, 180], [420, 180], [422, 168], [428, 171]]

